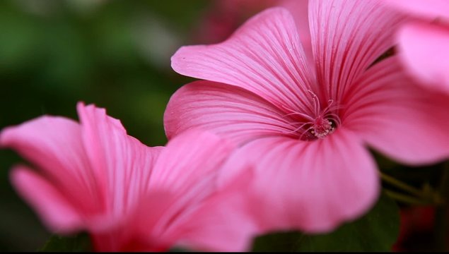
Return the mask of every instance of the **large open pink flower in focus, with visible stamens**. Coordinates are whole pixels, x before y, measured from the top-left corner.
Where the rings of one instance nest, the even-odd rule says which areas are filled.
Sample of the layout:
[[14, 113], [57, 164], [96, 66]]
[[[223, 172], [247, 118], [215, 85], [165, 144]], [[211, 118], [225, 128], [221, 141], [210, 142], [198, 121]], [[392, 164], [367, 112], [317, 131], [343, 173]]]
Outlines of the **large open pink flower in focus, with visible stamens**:
[[328, 231], [366, 212], [379, 193], [366, 145], [412, 165], [449, 155], [448, 100], [414, 85], [395, 56], [373, 65], [403, 16], [379, 1], [310, 1], [308, 20], [313, 59], [284, 8], [172, 57], [175, 71], [205, 80], [170, 99], [168, 138], [204, 128], [244, 145], [223, 182], [240, 161], [257, 164], [254, 212], [267, 229]]

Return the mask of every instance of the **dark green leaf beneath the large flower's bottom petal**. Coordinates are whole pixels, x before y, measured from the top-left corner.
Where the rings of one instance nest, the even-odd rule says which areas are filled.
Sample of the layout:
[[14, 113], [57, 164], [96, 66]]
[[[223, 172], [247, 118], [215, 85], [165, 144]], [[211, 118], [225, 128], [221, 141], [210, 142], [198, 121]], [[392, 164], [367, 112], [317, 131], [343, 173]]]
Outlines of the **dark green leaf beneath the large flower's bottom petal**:
[[282, 232], [255, 239], [254, 251], [390, 251], [400, 226], [399, 208], [387, 195], [365, 216], [330, 234]]

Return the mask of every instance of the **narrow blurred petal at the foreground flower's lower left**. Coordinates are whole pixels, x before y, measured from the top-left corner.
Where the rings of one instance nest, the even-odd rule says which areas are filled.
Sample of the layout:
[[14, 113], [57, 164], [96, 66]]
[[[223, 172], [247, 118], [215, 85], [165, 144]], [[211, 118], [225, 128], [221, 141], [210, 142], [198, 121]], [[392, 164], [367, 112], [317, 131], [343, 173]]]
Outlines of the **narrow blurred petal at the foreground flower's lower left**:
[[11, 182], [52, 231], [70, 234], [85, 227], [83, 219], [64, 193], [28, 167], [15, 167], [11, 172]]

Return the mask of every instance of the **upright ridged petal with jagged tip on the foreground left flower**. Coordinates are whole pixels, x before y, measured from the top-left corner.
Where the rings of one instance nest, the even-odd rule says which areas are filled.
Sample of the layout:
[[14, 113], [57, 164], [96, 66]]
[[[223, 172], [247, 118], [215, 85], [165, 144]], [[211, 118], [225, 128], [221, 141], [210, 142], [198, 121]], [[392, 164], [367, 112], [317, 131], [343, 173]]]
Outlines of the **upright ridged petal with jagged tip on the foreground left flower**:
[[[146, 195], [153, 166], [163, 147], [147, 147], [127, 135], [119, 120], [105, 109], [78, 103], [83, 142], [91, 162], [91, 181], [100, 188], [98, 197], [110, 222], [127, 219]], [[102, 192], [103, 191], [103, 192]], [[96, 225], [98, 227], [100, 225]], [[100, 226], [101, 227], [101, 226]]]

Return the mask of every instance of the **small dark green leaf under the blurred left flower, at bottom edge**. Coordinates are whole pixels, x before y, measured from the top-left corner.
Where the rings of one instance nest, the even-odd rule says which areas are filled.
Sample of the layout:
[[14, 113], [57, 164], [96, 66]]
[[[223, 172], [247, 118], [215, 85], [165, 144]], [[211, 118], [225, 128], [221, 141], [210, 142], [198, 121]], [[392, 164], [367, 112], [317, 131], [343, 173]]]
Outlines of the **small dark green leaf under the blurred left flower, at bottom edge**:
[[87, 252], [92, 251], [91, 239], [88, 234], [77, 234], [76, 236], [53, 235], [49, 238], [45, 246], [39, 251], [42, 252]]

